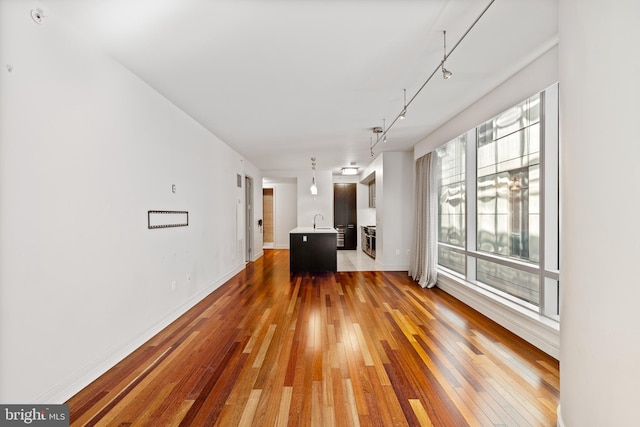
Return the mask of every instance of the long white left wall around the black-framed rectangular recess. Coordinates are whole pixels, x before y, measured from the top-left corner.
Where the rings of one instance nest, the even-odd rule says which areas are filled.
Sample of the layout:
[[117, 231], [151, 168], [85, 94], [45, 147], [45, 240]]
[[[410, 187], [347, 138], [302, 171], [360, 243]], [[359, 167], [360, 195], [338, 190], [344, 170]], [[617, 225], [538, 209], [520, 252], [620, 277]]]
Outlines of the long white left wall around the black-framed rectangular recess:
[[[36, 6], [0, 3], [3, 403], [66, 400], [240, 271], [236, 174], [260, 180]], [[156, 209], [189, 226], [147, 229]]]

